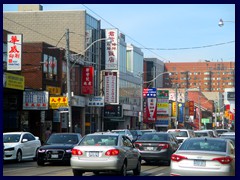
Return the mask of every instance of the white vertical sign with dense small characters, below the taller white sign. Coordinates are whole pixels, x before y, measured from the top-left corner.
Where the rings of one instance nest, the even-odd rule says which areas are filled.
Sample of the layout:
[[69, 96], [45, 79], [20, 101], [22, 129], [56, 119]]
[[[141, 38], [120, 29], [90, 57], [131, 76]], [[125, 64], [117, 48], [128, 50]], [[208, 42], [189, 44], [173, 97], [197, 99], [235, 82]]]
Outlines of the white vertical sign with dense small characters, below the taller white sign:
[[117, 103], [117, 72], [105, 72], [105, 103]]

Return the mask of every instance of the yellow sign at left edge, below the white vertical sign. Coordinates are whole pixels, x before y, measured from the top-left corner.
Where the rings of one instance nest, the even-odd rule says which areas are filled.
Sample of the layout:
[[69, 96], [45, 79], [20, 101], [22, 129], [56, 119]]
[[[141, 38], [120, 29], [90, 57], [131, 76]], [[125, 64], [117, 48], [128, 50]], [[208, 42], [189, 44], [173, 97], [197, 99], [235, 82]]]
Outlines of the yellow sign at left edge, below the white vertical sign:
[[3, 87], [24, 90], [24, 85], [25, 85], [24, 76], [11, 73], [4, 73]]

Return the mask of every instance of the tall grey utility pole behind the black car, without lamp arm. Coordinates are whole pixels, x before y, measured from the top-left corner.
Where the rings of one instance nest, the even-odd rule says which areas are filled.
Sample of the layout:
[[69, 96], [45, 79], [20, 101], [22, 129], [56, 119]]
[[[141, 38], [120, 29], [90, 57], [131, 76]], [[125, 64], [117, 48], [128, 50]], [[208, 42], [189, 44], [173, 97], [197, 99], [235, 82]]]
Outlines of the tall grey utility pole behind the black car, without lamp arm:
[[66, 29], [66, 61], [67, 61], [67, 98], [68, 98], [68, 132], [72, 132], [72, 102], [71, 102], [71, 81], [69, 62], [69, 29]]

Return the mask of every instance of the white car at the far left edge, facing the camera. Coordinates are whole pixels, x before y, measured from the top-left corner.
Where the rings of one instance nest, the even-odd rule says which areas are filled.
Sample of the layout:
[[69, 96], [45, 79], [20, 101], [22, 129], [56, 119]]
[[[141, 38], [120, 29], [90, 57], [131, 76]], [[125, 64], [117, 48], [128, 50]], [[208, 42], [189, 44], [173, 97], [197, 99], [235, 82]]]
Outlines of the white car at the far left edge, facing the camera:
[[3, 133], [4, 157], [7, 160], [21, 162], [23, 159], [36, 159], [37, 150], [41, 146], [39, 137], [30, 132]]

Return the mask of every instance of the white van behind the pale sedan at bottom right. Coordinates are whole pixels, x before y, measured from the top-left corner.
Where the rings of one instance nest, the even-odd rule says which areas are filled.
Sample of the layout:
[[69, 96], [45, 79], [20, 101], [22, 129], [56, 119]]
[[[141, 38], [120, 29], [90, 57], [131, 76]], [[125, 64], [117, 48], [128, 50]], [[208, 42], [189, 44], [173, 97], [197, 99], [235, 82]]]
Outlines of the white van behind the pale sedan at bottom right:
[[191, 129], [168, 129], [168, 133], [173, 133], [178, 143], [181, 144], [185, 139], [195, 137], [194, 131]]

